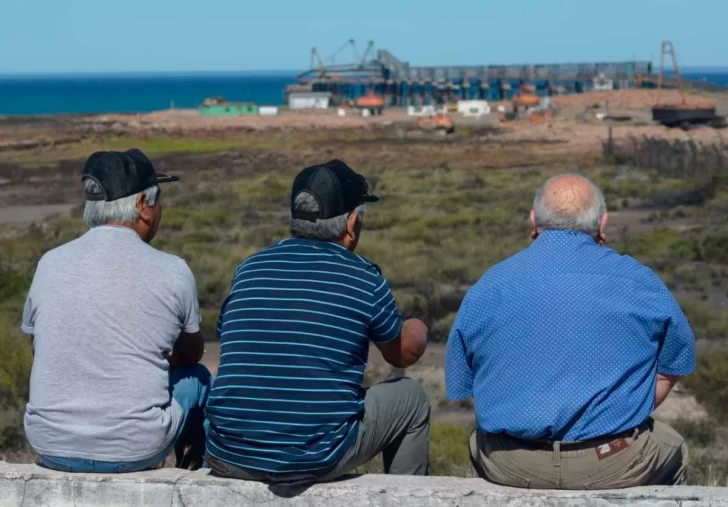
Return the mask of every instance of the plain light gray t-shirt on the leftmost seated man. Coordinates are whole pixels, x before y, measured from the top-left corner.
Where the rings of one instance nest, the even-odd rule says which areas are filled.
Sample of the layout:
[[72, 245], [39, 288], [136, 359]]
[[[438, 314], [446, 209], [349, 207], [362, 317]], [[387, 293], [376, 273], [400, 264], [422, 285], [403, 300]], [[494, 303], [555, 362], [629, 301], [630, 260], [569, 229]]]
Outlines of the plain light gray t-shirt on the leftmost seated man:
[[172, 444], [182, 409], [166, 356], [200, 329], [184, 260], [102, 226], [46, 253], [23, 311], [34, 359], [25, 433], [37, 453], [144, 460]]

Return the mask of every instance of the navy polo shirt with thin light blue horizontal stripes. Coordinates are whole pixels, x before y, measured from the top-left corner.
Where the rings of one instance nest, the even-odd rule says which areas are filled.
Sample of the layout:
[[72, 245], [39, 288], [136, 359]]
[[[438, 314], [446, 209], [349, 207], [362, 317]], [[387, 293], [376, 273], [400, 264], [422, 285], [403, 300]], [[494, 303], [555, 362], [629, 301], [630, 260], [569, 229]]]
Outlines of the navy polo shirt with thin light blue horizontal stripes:
[[379, 268], [341, 245], [292, 238], [249, 257], [218, 320], [207, 452], [279, 476], [325, 473], [356, 440], [369, 340], [401, 327]]

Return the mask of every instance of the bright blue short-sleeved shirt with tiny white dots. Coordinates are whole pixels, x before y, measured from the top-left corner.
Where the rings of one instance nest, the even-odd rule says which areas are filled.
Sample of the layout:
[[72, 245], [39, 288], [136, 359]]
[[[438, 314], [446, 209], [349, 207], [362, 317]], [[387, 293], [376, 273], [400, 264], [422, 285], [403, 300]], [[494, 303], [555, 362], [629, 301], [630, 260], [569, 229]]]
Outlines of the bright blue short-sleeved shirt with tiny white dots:
[[562, 441], [640, 425], [656, 374], [694, 369], [693, 331], [660, 278], [562, 230], [468, 291], [445, 360], [448, 398], [473, 397], [482, 431]]

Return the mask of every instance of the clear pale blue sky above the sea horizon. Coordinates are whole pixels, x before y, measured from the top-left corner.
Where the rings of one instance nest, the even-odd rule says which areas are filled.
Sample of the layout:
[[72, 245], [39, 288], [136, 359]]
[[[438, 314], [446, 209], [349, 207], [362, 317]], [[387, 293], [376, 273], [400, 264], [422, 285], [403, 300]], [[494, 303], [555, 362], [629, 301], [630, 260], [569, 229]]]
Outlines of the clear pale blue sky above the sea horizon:
[[[4, 0], [0, 74], [303, 70], [354, 38], [412, 65], [728, 66], [728, 0]], [[336, 59], [353, 60], [351, 50]]]

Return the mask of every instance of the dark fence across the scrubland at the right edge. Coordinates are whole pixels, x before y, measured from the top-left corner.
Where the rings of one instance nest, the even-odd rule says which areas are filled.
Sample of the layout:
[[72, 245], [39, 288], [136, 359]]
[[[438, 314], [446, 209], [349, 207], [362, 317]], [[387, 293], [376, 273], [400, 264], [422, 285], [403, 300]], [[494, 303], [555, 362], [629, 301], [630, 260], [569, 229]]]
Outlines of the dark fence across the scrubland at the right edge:
[[693, 139], [670, 141], [647, 136], [615, 141], [610, 128], [609, 137], [602, 144], [607, 164], [657, 171], [675, 178], [728, 176], [728, 144], [725, 141], [706, 145]]

